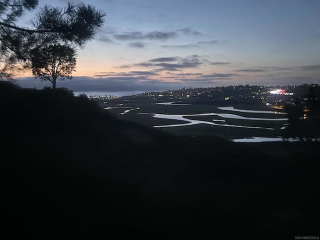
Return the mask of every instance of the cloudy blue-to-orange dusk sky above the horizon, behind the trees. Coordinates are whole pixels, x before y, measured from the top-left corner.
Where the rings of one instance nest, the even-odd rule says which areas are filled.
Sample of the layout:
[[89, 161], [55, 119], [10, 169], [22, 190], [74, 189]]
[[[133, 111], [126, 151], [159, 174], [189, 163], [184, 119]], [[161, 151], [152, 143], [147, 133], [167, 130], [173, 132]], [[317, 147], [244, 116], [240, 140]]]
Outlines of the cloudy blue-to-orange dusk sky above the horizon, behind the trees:
[[[66, 2], [39, 0], [39, 7]], [[57, 87], [84, 92], [319, 83], [320, 0], [82, 2], [104, 10], [105, 23], [78, 51], [73, 79]], [[51, 85], [31, 73], [18, 83]]]

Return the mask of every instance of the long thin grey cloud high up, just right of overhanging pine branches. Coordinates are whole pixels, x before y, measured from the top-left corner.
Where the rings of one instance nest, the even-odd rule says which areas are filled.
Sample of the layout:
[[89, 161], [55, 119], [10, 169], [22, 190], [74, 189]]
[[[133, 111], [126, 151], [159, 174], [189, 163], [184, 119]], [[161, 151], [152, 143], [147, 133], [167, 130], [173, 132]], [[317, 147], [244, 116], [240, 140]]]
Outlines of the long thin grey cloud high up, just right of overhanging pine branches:
[[142, 33], [141, 31], [130, 31], [123, 34], [113, 35], [117, 40], [165, 40], [177, 36], [175, 32], [150, 31]]

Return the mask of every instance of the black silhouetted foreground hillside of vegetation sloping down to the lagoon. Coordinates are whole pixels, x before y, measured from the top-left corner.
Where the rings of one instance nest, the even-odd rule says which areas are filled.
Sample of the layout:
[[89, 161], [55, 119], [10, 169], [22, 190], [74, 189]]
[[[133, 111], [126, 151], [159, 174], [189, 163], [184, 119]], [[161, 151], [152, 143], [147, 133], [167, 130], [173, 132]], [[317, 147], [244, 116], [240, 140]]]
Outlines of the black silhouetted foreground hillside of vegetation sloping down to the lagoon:
[[317, 142], [234, 143], [0, 82], [2, 239], [318, 236]]

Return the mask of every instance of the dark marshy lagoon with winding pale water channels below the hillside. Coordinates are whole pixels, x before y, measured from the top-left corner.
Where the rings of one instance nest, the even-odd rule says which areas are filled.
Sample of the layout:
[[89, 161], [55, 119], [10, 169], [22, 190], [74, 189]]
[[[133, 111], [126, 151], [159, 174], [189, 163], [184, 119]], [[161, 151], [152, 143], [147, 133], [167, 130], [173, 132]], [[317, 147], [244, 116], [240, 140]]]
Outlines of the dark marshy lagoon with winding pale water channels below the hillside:
[[[182, 106], [184, 107], [181, 108]], [[123, 108], [123, 111], [119, 109], [120, 111], [115, 112], [123, 115], [125, 119], [136, 119], [137, 121], [156, 128], [167, 128], [168, 131], [173, 134], [201, 135], [201, 132], [203, 132], [203, 134], [226, 136], [230, 140], [238, 142], [281, 141], [282, 138], [277, 136], [281, 134], [280, 129], [284, 129], [288, 124], [288, 118], [279, 118], [278, 115], [287, 114], [285, 112], [238, 109], [234, 106], [197, 106], [179, 102], [158, 102], [155, 104], [144, 104], [141, 102], [132, 104], [132, 102], [127, 102], [121, 105], [113, 104], [105, 107], [105, 109], [113, 108]], [[174, 109], [176, 109], [176, 111]], [[232, 111], [234, 113], [232, 113]], [[175, 112], [179, 114], [175, 114]], [[142, 115], [149, 115], [151, 117], [143, 117]], [[165, 120], [156, 122], [152, 120], [154, 118], [168, 119], [171, 120], [171, 122]], [[177, 122], [175, 123], [174, 121]], [[211, 126], [212, 128], [205, 128], [205, 125]], [[172, 130], [169, 128], [172, 128]], [[224, 128], [226, 131], [223, 130]], [[243, 131], [230, 130], [231, 128], [242, 128]], [[254, 129], [257, 131], [254, 131]]]

